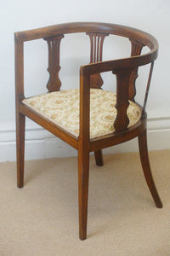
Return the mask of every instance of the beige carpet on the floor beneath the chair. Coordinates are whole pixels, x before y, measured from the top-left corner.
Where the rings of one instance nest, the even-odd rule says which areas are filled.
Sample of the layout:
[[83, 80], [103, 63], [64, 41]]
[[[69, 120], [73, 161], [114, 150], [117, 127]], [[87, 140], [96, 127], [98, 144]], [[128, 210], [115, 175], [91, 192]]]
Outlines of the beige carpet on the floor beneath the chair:
[[77, 158], [26, 162], [24, 189], [15, 163], [0, 164], [0, 256], [170, 255], [170, 150], [150, 152], [164, 207], [157, 209], [139, 154], [90, 160], [88, 239], [78, 238]]

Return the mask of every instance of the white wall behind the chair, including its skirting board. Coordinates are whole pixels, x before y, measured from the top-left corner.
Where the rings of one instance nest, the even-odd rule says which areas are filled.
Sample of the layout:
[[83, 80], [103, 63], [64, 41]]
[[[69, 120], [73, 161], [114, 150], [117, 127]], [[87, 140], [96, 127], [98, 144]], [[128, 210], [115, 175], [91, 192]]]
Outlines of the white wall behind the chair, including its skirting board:
[[[0, 161], [15, 160], [14, 134], [14, 32], [41, 26], [49, 26], [71, 21], [101, 21], [137, 27], [154, 35], [160, 44], [159, 57], [151, 82], [147, 111], [149, 115], [148, 137], [150, 149], [170, 148], [170, 2], [169, 0], [8, 0], [1, 3], [0, 9]], [[65, 36], [61, 42], [60, 78], [63, 88], [78, 86], [79, 66], [88, 63], [88, 37]], [[69, 44], [67, 44], [69, 42]], [[119, 45], [122, 51], [114, 48], [116, 40], [105, 40], [104, 59], [124, 55], [129, 45], [123, 40]], [[82, 47], [82, 48], [81, 48]], [[107, 49], [111, 48], [111, 55]], [[48, 80], [47, 45], [44, 41], [26, 43], [26, 96], [46, 91]], [[72, 56], [75, 56], [71, 62]], [[65, 64], [67, 62], [67, 64]], [[143, 92], [145, 70], [140, 71], [144, 79], [139, 79], [138, 89]], [[105, 77], [105, 75], [104, 75]], [[111, 77], [109, 89], [111, 89]], [[139, 101], [142, 97], [139, 96]], [[105, 150], [105, 153], [135, 151], [134, 140], [125, 145]], [[54, 138], [47, 131], [33, 124], [26, 125], [26, 159], [60, 157], [76, 154], [65, 143]]]

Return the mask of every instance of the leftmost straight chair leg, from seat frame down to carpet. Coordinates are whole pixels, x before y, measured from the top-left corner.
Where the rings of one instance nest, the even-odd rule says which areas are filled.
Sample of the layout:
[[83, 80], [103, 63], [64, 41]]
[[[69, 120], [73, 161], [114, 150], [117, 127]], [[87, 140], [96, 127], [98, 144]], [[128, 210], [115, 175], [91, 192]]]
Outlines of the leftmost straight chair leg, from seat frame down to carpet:
[[25, 157], [25, 124], [26, 117], [16, 114], [16, 154], [17, 154], [17, 185], [24, 186], [24, 157]]

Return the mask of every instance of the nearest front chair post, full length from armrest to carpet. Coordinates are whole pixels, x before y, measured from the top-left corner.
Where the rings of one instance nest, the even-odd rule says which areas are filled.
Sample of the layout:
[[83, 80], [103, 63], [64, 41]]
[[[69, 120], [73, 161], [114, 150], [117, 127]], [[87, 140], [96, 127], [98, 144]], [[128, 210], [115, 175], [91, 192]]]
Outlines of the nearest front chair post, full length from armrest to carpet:
[[90, 75], [80, 68], [80, 135], [78, 137], [79, 237], [87, 238], [90, 149]]

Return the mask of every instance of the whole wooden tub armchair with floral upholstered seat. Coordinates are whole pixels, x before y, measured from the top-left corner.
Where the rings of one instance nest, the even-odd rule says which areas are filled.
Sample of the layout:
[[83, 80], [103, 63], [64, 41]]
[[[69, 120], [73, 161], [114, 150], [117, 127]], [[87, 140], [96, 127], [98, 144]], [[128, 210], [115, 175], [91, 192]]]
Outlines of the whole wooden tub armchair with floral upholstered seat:
[[[79, 90], [62, 91], [59, 80], [59, 44], [65, 34], [76, 32], [85, 32], [90, 38], [90, 64], [80, 67]], [[102, 61], [103, 42], [109, 34], [130, 40], [132, 45], [130, 57]], [[96, 22], [67, 23], [15, 32], [14, 38], [18, 187], [22, 188], [24, 184], [25, 118], [27, 116], [78, 151], [79, 236], [81, 240], [87, 238], [89, 153], [92, 151], [94, 151], [96, 165], [103, 166], [102, 148], [108, 148], [138, 137], [144, 177], [156, 207], [161, 208], [161, 200], [150, 172], [145, 112], [150, 79], [158, 51], [156, 38], [131, 27]], [[26, 99], [24, 94], [24, 43], [39, 38], [43, 38], [48, 43], [49, 80], [47, 88], [50, 93]], [[149, 52], [140, 55], [144, 46], [148, 46]], [[140, 106], [134, 100], [135, 80], [138, 77], [138, 67], [148, 63], [150, 63], [149, 79], [146, 85], [144, 105]], [[116, 75], [116, 96], [112, 92], [101, 90], [103, 80], [100, 73], [108, 71]], [[50, 97], [54, 99], [54, 102], [48, 104], [48, 101], [51, 101]], [[67, 104], [65, 104], [65, 97]], [[90, 102], [91, 99], [92, 102]], [[106, 111], [101, 107], [104, 113], [102, 113], [101, 119], [97, 119], [101, 110], [100, 104], [109, 100], [111, 100], [109, 109], [107, 108]], [[71, 113], [65, 115], [65, 110], [72, 108], [72, 106], [68, 106], [68, 102], [71, 103], [71, 101], [77, 101], [77, 106], [74, 106], [77, 108], [75, 110], [77, 116], [71, 116]], [[54, 111], [53, 108], [48, 113], [48, 105], [44, 105], [44, 102], [57, 110]], [[64, 112], [59, 110], [60, 104], [63, 102]], [[91, 112], [92, 117], [90, 118]], [[61, 119], [59, 119], [60, 115]], [[68, 124], [70, 119], [72, 119], [72, 126]], [[109, 121], [110, 125], [105, 121]]]

